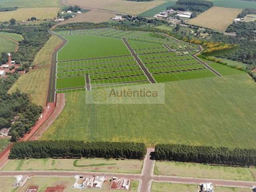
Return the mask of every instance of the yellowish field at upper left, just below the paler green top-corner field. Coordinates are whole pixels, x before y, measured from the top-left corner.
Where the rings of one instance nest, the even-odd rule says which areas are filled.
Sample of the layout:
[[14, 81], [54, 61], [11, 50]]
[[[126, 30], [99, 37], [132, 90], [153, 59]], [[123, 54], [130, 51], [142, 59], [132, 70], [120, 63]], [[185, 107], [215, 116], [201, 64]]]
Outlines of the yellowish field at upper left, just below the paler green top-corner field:
[[52, 19], [57, 16], [58, 10], [58, 7], [19, 8], [15, 11], [0, 12], [0, 22], [9, 21], [11, 18], [17, 21], [27, 20], [31, 17]]

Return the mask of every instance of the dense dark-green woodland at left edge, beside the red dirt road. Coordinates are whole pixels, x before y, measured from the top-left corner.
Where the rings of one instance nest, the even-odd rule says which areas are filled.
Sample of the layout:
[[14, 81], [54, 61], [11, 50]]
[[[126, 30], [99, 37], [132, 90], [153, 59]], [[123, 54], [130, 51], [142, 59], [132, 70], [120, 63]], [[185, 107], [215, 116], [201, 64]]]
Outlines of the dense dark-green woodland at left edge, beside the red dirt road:
[[19, 76], [14, 73], [0, 79], [0, 129], [10, 128], [12, 141], [17, 141], [30, 131], [42, 113], [42, 107], [30, 102], [27, 94], [19, 90], [7, 93]]

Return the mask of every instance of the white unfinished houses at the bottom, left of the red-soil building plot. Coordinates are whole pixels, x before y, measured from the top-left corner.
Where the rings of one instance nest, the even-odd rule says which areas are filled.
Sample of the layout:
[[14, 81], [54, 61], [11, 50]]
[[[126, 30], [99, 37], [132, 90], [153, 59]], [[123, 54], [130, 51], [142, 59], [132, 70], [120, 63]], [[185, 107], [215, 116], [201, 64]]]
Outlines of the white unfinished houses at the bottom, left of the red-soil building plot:
[[105, 177], [82, 177], [82, 176], [75, 176], [76, 182], [73, 185], [74, 188], [102, 188], [104, 181], [106, 180]]

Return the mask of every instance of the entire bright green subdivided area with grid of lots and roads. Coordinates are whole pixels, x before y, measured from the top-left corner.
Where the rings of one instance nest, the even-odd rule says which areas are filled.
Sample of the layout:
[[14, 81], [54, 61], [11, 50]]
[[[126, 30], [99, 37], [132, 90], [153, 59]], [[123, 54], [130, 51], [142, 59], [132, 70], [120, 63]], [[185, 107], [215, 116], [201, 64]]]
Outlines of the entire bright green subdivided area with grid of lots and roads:
[[145, 84], [150, 78], [166, 82], [215, 76], [192, 56], [199, 51], [197, 45], [156, 38], [151, 32], [100, 28], [56, 33], [68, 40], [58, 52], [57, 93]]

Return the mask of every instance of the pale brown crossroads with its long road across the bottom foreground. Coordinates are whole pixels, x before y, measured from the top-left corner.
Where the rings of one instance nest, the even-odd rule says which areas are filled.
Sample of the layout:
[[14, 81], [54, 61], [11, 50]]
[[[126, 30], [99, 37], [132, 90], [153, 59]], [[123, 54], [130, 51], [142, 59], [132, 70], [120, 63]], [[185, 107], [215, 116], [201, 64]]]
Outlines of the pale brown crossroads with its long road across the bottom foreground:
[[206, 178], [190, 178], [179, 176], [156, 176], [154, 175], [155, 161], [150, 159], [150, 153], [154, 151], [154, 148], [148, 148], [146, 158], [144, 159], [141, 174], [121, 174], [121, 173], [102, 173], [102, 172], [75, 172], [75, 171], [0, 171], [0, 177], [12, 177], [22, 174], [30, 174], [32, 176], [40, 177], [74, 177], [80, 176], [106, 176], [108, 178], [120, 177], [128, 178], [132, 180], [139, 180], [140, 184], [138, 192], [150, 192], [152, 182], [172, 182], [183, 184], [200, 184], [200, 183], [212, 183], [217, 186], [228, 187], [241, 187], [250, 188], [250, 186], [256, 186], [256, 182], [250, 181], [236, 181], [236, 180], [222, 180], [222, 179], [206, 179]]

